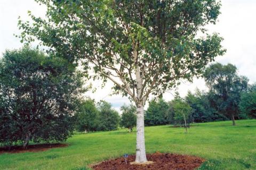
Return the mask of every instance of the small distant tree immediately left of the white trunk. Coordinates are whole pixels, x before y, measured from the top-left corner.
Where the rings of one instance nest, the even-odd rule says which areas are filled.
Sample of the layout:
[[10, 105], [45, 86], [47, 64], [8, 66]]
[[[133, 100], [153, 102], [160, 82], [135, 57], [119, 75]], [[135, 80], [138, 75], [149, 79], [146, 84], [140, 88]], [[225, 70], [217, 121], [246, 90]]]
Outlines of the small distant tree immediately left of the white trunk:
[[132, 104], [129, 106], [123, 105], [121, 111], [120, 126], [128, 128], [131, 133], [132, 128], [136, 126], [136, 106], [133, 106]]

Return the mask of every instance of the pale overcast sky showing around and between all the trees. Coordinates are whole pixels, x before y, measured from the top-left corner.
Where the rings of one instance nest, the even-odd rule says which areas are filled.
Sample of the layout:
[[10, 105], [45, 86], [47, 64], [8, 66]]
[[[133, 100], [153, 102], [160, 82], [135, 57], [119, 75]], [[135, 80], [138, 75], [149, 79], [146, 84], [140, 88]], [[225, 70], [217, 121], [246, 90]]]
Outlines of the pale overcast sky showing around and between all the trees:
[[[238, 73], [250, 79], [250, 83], [256, 82], [256, 1], [255, 0], [222, 0], [219, 22], [215, 25], [207, 25], [209, 32], [218, 32], [224, 38], [222, 46], [227, 49], [224, 56], [216, 58], [216, 62], [222, 64], [231, 63], [237, 66]], [[36, 16], [45, 15], [45, 7], [38, 5], [34, 0], [0, 0], [0, 55], [6, 49], [22, 47], [19, 39], [13, 34], [19, 35], [17, 27], [18, 16], [22, 20], [29, 20], [27, 11]], [[110, 96], [111, 83], [101, 88], [101, 81], [94, 81], [94, 93], [88, 91], [85, 96], [96, 101], [106, 100], [119, 111], [123, 104], [129, 104], [126, 97], [120, 95]], [[193, 83], [182, 82], [178, 87], [181, 97], [186, 96], [187, 91], [196, 88], [207, 90], [202, 79], [194, 79]], [[166, 92], [163, 98], [169, 101], [173, 98], [174, 89]], [[148, 104], [147, 104], [148, 105]], [[146, 105], [146, 107], [147, 107]]]

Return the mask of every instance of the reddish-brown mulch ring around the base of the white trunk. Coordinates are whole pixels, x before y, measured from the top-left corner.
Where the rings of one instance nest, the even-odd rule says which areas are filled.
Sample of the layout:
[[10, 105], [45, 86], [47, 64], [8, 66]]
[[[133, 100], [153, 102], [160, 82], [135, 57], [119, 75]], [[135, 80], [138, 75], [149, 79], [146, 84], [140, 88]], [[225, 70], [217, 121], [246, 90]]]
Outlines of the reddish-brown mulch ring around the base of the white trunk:
[[113, 160], [107, 160], [97, 165], [92, 165], [91, 168], [94, 170], [193, 170], [201, 166], [205, 161], [204, 159], [196, 156], [162, 154], [160, 152], [147, 154], [147, 160], [153, 161], [153, 164], [131, 165], [130, 163], [134, 162], [134, 160], [135, 155], [129, 155], [127, 158], [127, 164], [125, 164], [125, 159], [121, 157]]

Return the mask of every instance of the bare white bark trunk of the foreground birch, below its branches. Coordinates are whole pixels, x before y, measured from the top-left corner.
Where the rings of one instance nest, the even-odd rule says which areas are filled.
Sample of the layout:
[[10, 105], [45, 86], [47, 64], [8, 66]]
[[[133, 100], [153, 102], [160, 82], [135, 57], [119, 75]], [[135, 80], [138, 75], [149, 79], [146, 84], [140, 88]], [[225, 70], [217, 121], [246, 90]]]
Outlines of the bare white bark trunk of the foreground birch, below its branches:
[[146, 148], [145, 148], [145, 134], [144, 134], [144, 107], [137, 106], [137, 140], [136, 140], [136, 158], [135, 162], [145, 163]]

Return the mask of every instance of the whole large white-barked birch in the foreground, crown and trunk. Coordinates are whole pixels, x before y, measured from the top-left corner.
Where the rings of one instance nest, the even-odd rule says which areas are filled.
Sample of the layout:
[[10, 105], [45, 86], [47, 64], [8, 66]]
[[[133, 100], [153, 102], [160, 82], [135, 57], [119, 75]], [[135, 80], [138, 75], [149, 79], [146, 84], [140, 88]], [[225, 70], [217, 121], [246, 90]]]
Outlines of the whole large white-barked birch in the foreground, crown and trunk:
[[86, 77], [110, 80], [114, 94], [134, 101], [135, 162], [147, 161], [143, 107], [149, 95], [199, 76], [225, 52], [222, 38], [204, 28], [217, 21], [217, 0], [36, 1], [47, 6], [46, 18], [29, 12], [33, 23], [19, 21], [21, 41], [42, 41], [49, 53], [82, 63]]

